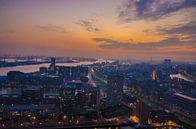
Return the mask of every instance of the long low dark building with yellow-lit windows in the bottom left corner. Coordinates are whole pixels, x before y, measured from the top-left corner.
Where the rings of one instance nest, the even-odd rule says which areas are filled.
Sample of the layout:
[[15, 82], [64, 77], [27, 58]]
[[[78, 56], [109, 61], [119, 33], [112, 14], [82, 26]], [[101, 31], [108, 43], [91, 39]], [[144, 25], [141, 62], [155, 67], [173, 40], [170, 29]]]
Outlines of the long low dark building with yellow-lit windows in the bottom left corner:
[[0, 111], [5, 121], [11, 117], [15, 122], [20, 122], [21, 120], [35, 121], [52, 118], [54, 108], [54, 104], [3, 105], [0, 106]]

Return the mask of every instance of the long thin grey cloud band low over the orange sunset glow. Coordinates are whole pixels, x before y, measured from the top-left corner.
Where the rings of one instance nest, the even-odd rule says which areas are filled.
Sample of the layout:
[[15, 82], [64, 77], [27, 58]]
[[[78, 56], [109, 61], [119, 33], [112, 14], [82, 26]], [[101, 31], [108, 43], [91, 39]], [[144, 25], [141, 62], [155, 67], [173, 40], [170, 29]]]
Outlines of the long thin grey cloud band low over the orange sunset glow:
[[100, 43], [99, 47], [103, 49], [130, 49], [130, 50], [152, 50], [162, 49], [167, 47], [187, 46], [191, 48], [196, 47], [196, 40], [186, 41], [181, 40], [179, 37], [171, 37], [160, 42], [146, 42], [146, 43], [134, 43], [134, 42], [120, 42], [109, 38], [93, 38], [93, 41]]

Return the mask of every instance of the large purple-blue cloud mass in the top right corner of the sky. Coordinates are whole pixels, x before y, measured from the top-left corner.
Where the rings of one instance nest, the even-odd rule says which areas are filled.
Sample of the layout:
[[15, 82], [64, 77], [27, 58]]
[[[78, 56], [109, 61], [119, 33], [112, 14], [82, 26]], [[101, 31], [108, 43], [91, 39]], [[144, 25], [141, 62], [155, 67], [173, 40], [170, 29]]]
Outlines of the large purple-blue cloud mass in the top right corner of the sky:
[[127, 0], [119, 9], [119, 18], [133, 20], [157, 20], [185, 8], [196, 7], [196, 0]]

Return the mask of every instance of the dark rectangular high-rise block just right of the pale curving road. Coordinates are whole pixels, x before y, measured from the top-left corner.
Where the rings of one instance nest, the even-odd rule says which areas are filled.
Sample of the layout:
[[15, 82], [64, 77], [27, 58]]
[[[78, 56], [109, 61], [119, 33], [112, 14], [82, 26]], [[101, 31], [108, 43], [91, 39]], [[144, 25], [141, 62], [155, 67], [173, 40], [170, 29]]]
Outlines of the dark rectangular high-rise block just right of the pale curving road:
[[108, 75], [107, 98], [109, 102], [122, 100], [124, 77], [121, 75]]

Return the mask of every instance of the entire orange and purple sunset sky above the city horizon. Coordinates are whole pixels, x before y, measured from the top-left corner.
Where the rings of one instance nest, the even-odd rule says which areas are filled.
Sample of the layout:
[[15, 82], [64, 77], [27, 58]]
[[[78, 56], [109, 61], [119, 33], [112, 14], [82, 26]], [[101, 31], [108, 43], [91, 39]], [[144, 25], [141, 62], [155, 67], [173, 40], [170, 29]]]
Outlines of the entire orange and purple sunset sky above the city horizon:
[[0, 0], [0, 55], [196, 62], [196, 0]]

